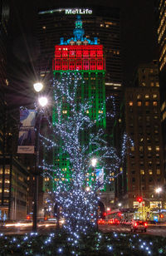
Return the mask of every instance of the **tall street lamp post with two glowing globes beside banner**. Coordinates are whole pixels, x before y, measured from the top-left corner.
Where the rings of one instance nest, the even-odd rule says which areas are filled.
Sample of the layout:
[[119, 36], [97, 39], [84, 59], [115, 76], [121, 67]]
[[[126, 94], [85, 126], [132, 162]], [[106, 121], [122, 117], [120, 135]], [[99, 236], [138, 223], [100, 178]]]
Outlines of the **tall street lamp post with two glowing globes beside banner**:
[[[42, 89], [41, 83], [36, 83], [33, 85], [35, 91], [39, 92]], [[44, 96], [38, 98], [38, 103], [41, 107], [46, 106], [47, 99]], [[37, 108], [37, 116], [39, 116], [36, 130], [36, 158], [35, 158], [35, 188], [34, 188], [34, 202], [33, 202], [33, 224], [32, 230], [37, 232], [37, 203], [38, 203], [38, 165], [39, 165], [39, 134], [41, 127], [41, 115], [39, 113], [39, 109]]]

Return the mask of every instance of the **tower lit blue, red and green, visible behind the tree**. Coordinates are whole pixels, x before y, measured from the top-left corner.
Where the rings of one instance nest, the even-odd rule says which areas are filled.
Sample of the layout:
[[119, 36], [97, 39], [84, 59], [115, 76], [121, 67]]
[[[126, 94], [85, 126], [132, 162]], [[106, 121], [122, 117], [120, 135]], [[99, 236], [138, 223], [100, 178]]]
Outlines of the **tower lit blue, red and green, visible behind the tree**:
[[[84, 37], [84, 29], [82, 28], [81, 17], [76, 20], [76, 27], [73, 31], [73, 37], [66, 42], [61, 38], [60, 45], [55, 46], [55, 57], [53, 59], [53, 75], [55, 79], [61, 81], [63, 74], [69, 76], [75, 72], [80, 73], [82, 82], [79, 87], [77, 101], [84, 102], [87, 99], [93, 99], [92, 107], [86, 111], [86, 115], [95, 121], [95, 129], [106, 128], [105, 118], [105, 58], [103, 56], [103, 46], [97, 42]], [[63, 102], [61, 102], [63, 104]], [[69, 110], [64, 104], [62, 106], [63, 116], [69, 115]], [[102, 119], [100, 116], [102, 115]], [[56, 109], [53, 109], [52, 122], [56, 123]], [[81, 140], [87, 140], [87, 134], [82, 132]], [[62, 179], [70, 182], [70, 162], [66, 160], [66, 155], [60, 151], [59, 157], [54, 152], [53, 165], [61, 168], [64, 172]], [[56, 177], [54, 179], [56, 181]]]

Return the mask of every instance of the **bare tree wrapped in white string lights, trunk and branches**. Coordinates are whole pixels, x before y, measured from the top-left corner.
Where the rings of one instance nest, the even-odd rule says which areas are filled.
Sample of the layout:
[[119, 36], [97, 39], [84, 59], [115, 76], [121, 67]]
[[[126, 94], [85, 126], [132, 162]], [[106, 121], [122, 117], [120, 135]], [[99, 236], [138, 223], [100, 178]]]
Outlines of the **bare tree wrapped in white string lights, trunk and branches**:
[[[51, 194], [62, 209], [64, 228], [76, 237], [95, 228], [100, 191], [110, 183], [110, 173], [117, 173], [125, 154], [124, 147], [118, 157], [115, 148], [107, 145], [104, 130], [90, 118], [94, 98], [81, 101], [82, 83], [79, 71], [64, 73], [53, 81], [54, 114], [52, 122], [48, 121], [51, 139], [41, 135], [46, 154], [53, 155], [52, 163], [45, 157], [41, 167], [51, 177]], [[101, 110], [100, 123], [103, 118]]]

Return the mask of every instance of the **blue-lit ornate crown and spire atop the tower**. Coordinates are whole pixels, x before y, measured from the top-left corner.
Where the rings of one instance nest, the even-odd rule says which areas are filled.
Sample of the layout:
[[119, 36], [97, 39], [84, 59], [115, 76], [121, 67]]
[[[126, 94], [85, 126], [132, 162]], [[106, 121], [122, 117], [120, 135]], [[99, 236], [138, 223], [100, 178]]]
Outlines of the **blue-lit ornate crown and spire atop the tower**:
[[82, 28], [81, 16], [77, 15], [77, 20], [75, 22], [76, 27], [73, 30], [74, 37], [71, 37], [66, 42], [64, 42], [64, 37], [60, 39], [60, 45], [97, 45], [97, 37], [94, 37], [94, 41], [83, 37], [85, 34], [84, 29]]

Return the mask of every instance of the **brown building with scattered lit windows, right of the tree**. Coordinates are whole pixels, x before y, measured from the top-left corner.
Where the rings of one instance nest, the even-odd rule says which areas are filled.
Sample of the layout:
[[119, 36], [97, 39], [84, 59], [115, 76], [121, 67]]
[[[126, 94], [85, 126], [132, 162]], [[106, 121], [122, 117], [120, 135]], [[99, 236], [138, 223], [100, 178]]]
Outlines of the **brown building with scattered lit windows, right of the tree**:
[[130, 209], [138, 208], [137, 198], [142, 197], [141, 205], [153, 211], [166, 207], [164, 194], [159, 198], [155, 191], [164, 190], [158, 63], [140, 65], [134, 78], [134, 86], [125, 90], [124, 121], [120, 120], [134, 145], [129, 145], [116, 180], [116, 196], [123, 208]]

